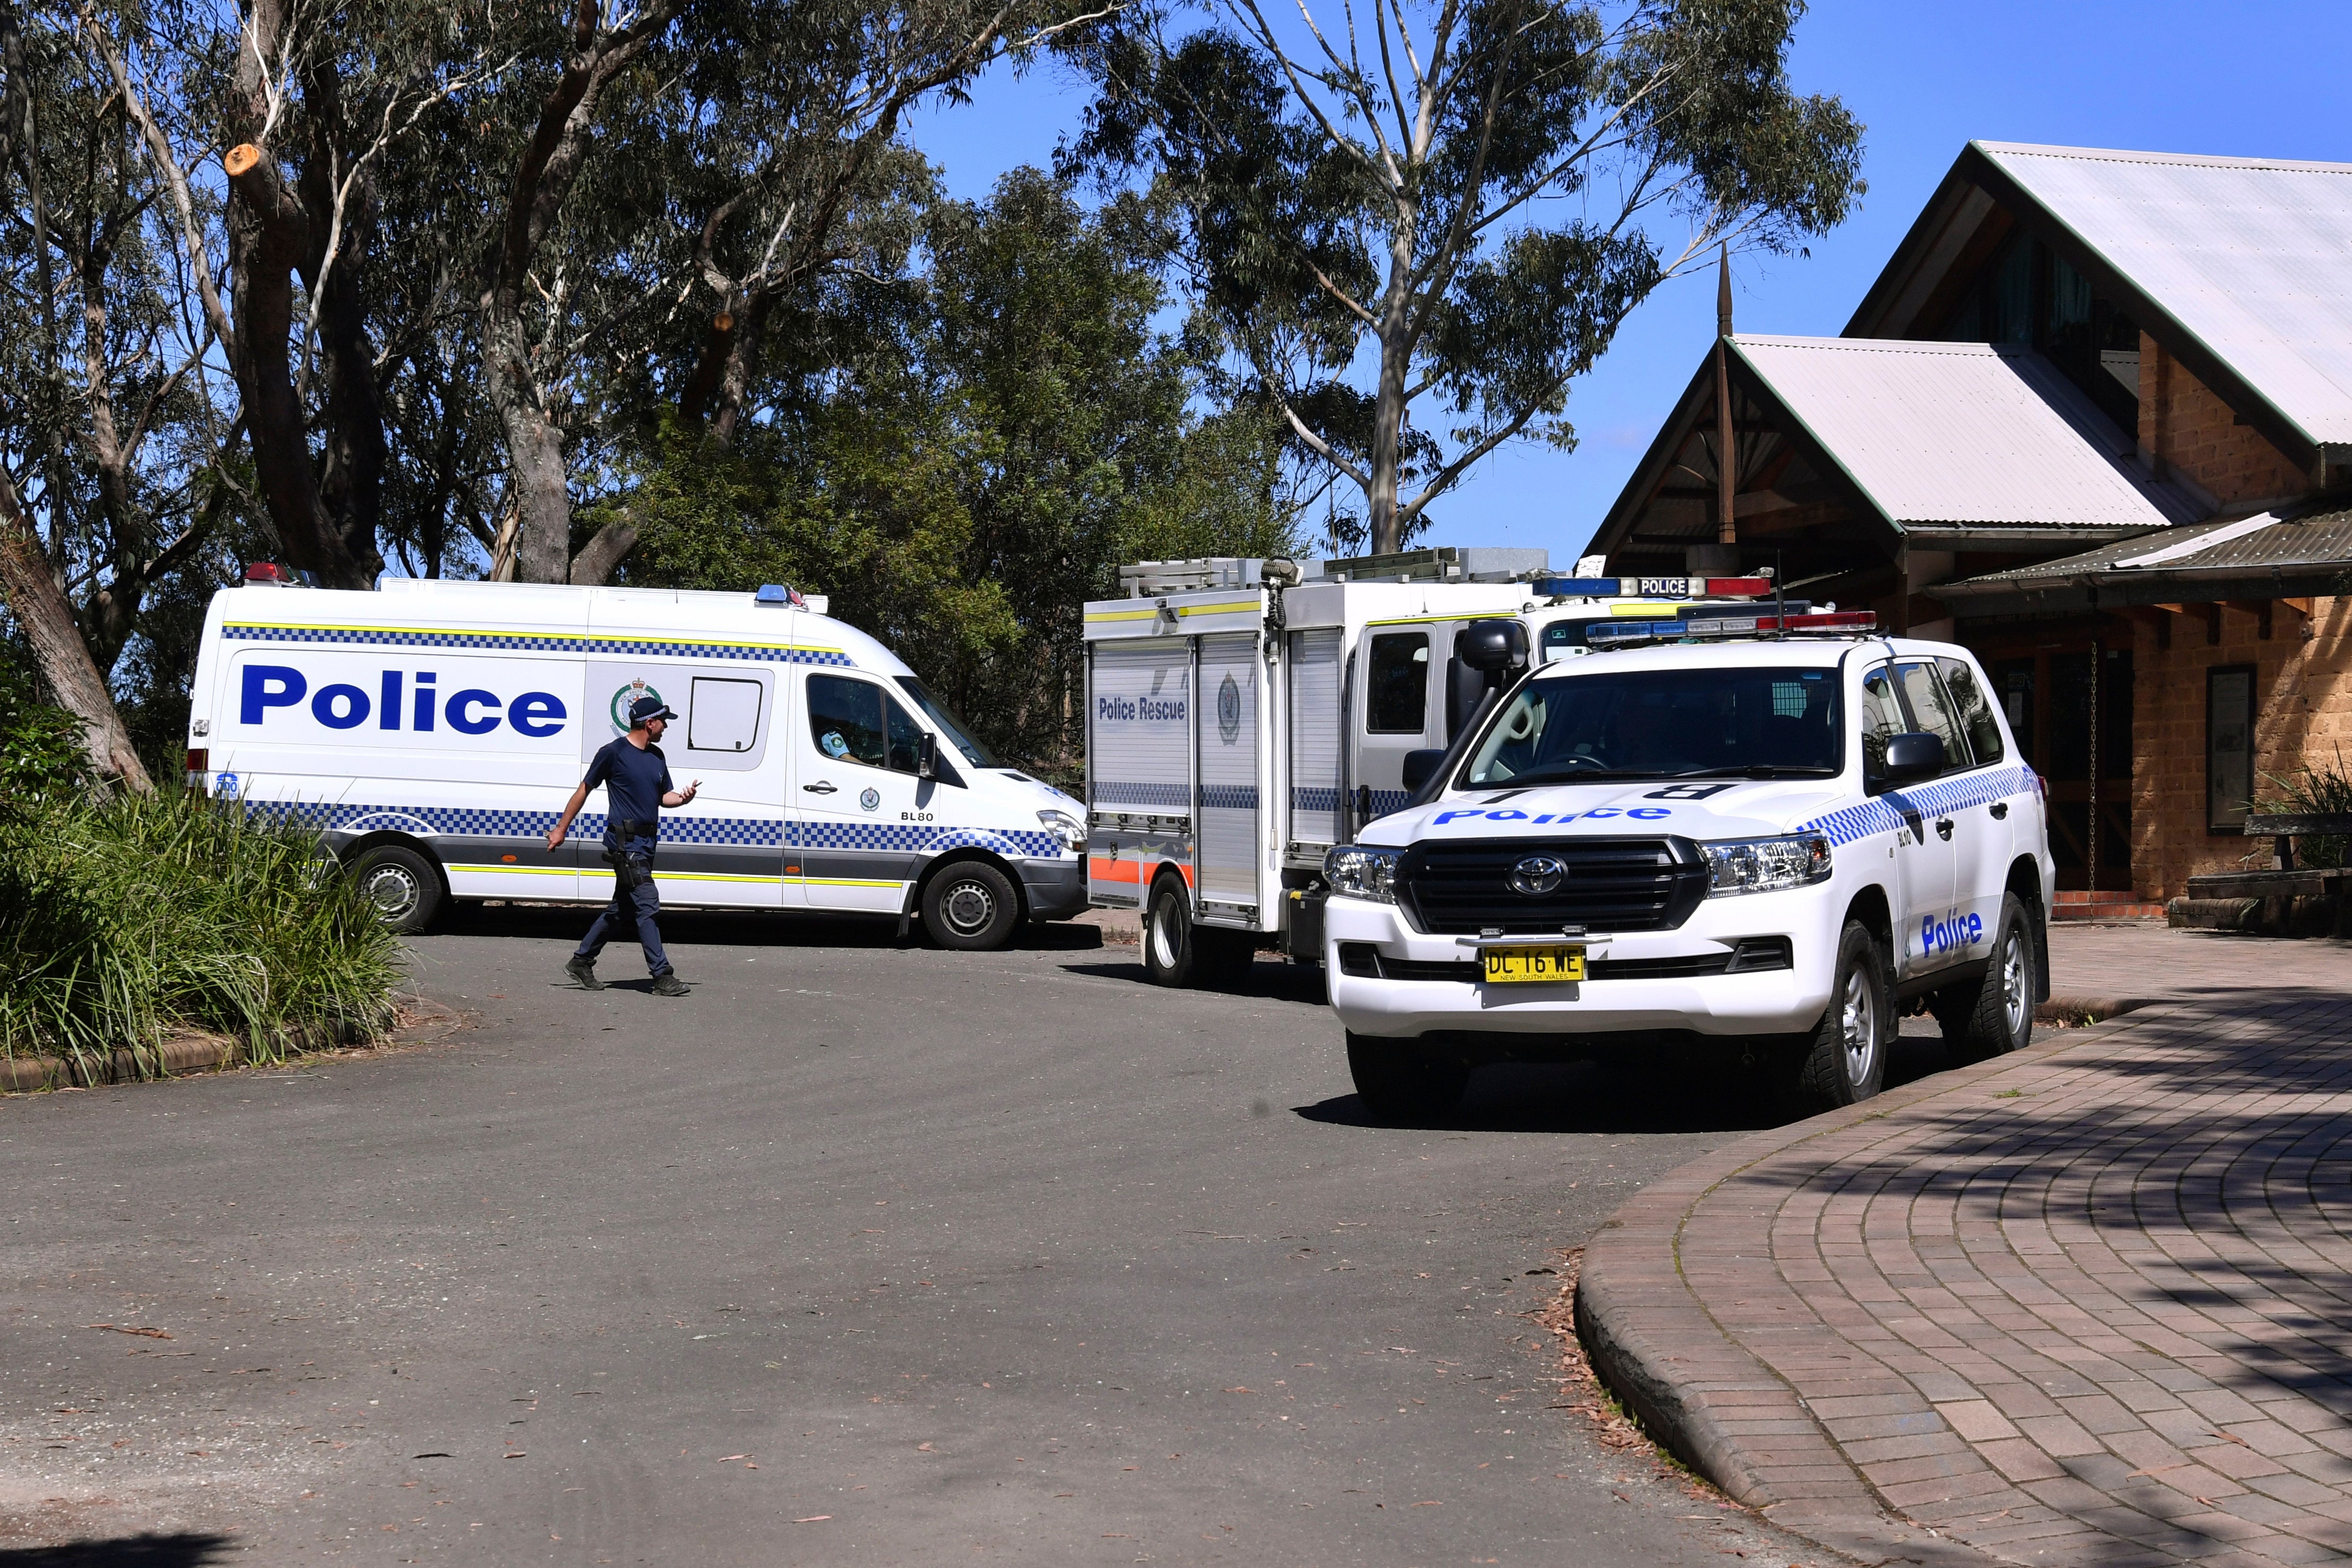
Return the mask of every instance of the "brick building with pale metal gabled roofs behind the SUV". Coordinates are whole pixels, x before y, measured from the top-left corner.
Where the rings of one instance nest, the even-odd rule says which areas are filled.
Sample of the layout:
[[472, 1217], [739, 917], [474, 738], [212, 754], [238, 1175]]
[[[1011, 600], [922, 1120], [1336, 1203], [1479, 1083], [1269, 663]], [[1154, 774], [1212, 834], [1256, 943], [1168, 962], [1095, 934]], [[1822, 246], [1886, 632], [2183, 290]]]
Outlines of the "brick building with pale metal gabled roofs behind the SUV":
[[2077, 907], [2239, 865], [2267, 776], [2352, 771], [2352, 165], [1969, 143], [1842, 336], [1708, 355], [1590, 548], [1976, 649]]

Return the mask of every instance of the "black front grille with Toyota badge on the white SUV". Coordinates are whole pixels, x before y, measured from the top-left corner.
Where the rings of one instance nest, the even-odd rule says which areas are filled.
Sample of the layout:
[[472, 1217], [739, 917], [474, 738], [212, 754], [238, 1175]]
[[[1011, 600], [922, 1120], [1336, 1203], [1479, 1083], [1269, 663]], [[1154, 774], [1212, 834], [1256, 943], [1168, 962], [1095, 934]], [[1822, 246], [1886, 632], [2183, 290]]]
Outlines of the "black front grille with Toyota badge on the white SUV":
[[[1524, 860], [1557, 863], [1519, 875]], [[1536, 891], [1524, 891], [1536, 889]], [[1708, 867], [1684, 839], [1479, 839], [1416, 844], [1397, 865], [1397, 903], [1416, 929], [1672, 931], [1708, 896]]]

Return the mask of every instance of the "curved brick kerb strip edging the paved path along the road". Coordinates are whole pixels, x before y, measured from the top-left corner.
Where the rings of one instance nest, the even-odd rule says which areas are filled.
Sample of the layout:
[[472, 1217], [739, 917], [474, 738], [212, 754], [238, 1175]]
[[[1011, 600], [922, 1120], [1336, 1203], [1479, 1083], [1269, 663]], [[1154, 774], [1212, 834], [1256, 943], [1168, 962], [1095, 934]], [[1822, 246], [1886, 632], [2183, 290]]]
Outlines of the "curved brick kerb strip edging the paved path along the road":
[[[2058, 1051], [2122, 1037], [2178, 1011], [2129, 999], [2053, 999], [2044, 1006], [2056, 1016], [2110, 1018], [2056, 1032], [2016, 1056], [1938, 1072], [1860, 1105], [1750, 1133], [1651, 1182], [1585, 1244], [1576, 1333], [1599, 1380], [1661, 1446], [1724, 1493], [1863, 1563], [1983, 1568], [2006, 1559], [1912, 1523], [1863, 1479], [1797, 1389], [1731, 1338], [1691, 1288], [1682, 1267], [1682, 1229], [1717, 1187], [1764, 1159], [1856, 1121], [1973, 1091]], [[1764, 1232], [1757, 1241], [1766, 1246]]]

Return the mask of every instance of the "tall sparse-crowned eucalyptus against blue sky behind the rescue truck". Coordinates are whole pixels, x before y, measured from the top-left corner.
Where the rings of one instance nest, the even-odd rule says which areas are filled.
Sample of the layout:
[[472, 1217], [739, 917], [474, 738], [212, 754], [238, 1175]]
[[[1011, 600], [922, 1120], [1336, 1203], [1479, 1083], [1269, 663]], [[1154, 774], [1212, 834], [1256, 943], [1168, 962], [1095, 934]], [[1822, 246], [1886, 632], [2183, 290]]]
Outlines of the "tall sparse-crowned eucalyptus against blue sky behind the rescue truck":
[[1101, 92], [1063, 167], [1176, 205], [1204, 331], [1397, 550], [1503, 442], [1573, 444], [1569, 381], [1663, 280], [1846, 216], [1860, 125], [1790, 87], [1802, 9], [1129, 12], [1068, 45]]

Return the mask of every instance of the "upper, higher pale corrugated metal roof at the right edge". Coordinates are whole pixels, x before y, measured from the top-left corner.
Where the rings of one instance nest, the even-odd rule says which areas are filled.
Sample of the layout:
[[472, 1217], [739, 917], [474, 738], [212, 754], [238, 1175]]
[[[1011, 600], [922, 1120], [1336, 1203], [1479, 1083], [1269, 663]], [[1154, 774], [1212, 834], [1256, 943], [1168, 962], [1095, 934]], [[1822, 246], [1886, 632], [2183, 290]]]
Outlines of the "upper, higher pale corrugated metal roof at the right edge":
[[2312, 442], [2352, 444], [2352, 165], [1976, 146]]

